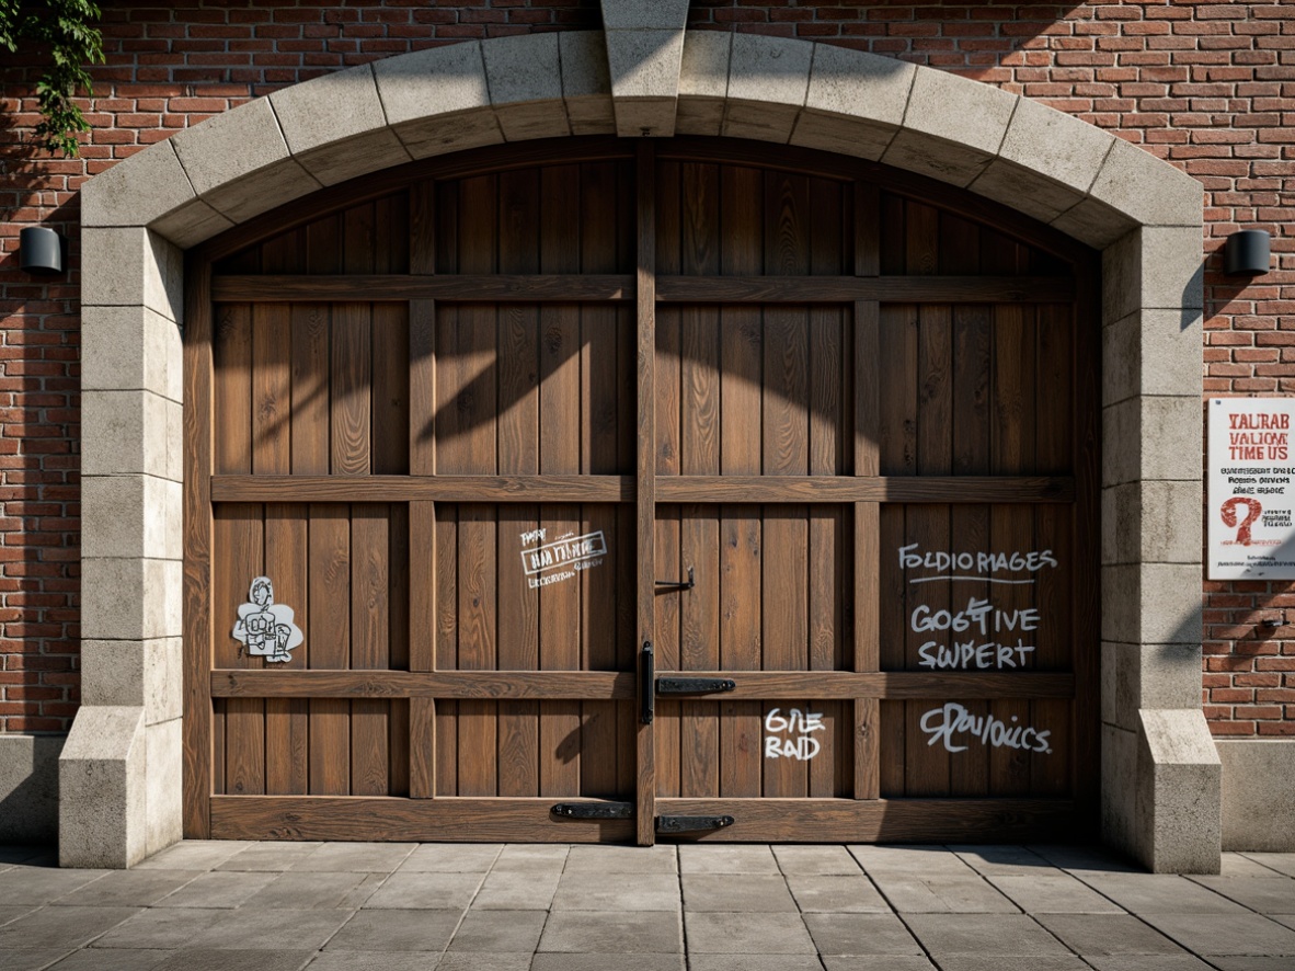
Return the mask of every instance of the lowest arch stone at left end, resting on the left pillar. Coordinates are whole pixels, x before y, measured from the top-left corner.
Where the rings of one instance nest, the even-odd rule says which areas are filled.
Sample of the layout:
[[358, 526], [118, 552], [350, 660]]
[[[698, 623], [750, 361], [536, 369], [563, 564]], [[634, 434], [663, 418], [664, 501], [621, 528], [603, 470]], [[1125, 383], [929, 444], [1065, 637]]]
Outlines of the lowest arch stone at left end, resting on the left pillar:
[[[82, 188], [83, 227], [139, 227], [198, 198], [170, 140], [137, 151]], [[198, 203], [201, 205], [201, 203]]]

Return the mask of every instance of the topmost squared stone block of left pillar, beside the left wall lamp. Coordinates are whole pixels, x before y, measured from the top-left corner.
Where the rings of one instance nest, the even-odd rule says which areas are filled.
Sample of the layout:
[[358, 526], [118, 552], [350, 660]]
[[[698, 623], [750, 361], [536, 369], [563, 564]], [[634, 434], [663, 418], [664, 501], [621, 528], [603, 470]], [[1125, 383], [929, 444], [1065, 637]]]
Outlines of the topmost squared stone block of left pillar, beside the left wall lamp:
[[184, 254], [142, 227], [82, 230], [82, 303], [184, 321]]

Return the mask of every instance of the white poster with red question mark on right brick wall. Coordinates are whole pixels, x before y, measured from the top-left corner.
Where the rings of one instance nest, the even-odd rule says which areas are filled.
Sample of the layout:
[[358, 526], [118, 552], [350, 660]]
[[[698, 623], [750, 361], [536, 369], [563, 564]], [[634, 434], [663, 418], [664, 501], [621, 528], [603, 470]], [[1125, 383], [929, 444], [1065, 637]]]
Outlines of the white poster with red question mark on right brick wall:
[[1295, 580], [1295, 397], [1210, 400], [1211, 580]]

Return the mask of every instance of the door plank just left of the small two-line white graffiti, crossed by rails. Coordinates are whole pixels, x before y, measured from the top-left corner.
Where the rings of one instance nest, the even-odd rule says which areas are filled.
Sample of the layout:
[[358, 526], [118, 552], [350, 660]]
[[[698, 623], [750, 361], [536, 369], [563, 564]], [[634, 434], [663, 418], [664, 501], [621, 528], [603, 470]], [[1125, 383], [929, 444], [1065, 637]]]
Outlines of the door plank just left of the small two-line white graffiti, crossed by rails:
[[[754, 168], [720, 171], [720, 269], [725, 274], [760, 273], [763, 262], [761, 173]], [[761, 473], [760, 432], [764, 334], [759, 309], [720, 311], [720, 471]], [[720, 659], [725, 671], [759, 671], [761, 663], [760, 557], [763, 531], [755, 506], [720, 508]], [[763, 778], [763, 706], [720, 703], [720, 795], [759, 796]]]

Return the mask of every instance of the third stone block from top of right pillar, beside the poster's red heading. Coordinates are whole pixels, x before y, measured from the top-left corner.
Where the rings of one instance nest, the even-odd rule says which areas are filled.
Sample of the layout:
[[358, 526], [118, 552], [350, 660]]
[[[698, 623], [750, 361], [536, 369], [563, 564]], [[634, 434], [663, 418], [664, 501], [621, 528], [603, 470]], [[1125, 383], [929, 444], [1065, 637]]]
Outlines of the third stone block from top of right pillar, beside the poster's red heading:
[[1102, 409], [1102, 486], [1200, 478], [1200, 399], [1131, 397]]

